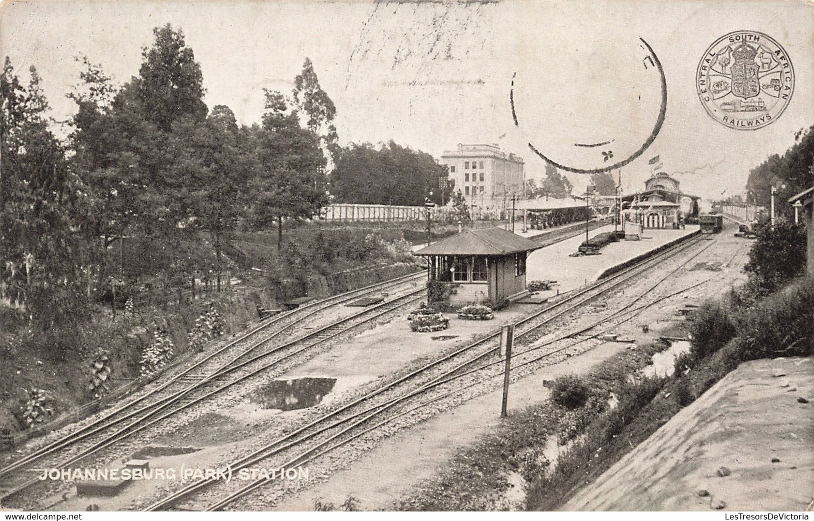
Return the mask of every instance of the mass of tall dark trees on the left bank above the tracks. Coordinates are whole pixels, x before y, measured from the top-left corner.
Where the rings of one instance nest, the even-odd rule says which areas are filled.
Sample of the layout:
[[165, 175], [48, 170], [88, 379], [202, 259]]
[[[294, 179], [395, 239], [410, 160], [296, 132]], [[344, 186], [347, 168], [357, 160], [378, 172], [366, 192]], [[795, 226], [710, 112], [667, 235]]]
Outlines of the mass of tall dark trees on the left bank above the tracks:
[[[154, 29], [138, 76], [114, 85], [81, 58], [68, 94], [70, 134], [51, 130], [41, 79], [25, 85], [8, 57], [0, 77], [0, 289], [6, 309], [79, 320], [120, 266], [108, 251], [138, 238], [172, 249], [211, 236], [218, 264], [234, 230], [278, 229], [328, 202], [336, 109], [305, 59], [291, 96], [265, 90], [259, 124], [208, 109], [203, 75], [180, 29]], [[173, 253], [171, 252], [171, 255]], [[147, 253], [144, 253], [147, 256]], [[189, 268], [177, 252], [173, 272]], [[158, 266], [155, 267], [159, 269]]]

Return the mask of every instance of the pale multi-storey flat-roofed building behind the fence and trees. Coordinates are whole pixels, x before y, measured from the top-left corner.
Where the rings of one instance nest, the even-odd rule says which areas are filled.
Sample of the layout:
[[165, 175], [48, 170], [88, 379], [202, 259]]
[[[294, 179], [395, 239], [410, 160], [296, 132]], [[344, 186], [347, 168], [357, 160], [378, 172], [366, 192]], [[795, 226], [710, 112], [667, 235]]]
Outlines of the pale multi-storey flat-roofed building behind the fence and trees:
[[513, 196], [523, 195], [523, 158], [501, 151], [497, 145], [464, 145], [445, 151], [441, 161], [449, 167], [449, 184], [482, 209], [505, 209]]

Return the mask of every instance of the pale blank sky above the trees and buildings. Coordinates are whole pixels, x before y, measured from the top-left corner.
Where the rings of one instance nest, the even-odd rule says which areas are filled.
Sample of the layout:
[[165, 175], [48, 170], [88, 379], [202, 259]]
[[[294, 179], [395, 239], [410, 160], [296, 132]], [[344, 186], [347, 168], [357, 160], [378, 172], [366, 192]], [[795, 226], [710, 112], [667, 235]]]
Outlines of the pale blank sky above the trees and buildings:
[[[51, 115], [66, 120], [78, 55], [123, 83], [138, 75], [152, 28], [166, 23], [195, 52], [204, 101], [229, 106], [240, 123], [260, 120], [264, 88], [291, 94], [309, 57], [337, 107], [343, 144], [392, 139], [440, 159], [457, 143], [497, 143], [523, 157], [527, 177], [545, 171], [529, 142], [570, 166], [599, 152], [575, 142], [608, 141], [615, 160], [641, 147], [661, 98], [659, 75], [641, 66], [640, 38], [663, 65], [667, 110], [646, 151], [613, 172], [624, 191], [643, 187], [659, 155], [685, 192], [740, 193], [750, 169], [814, 125], [814, 11], [799, 1], [7, 0], [0, 54], [26, 80], [36, 66]], [[736, 30], [774, 38], [794, 65], [789, 106], [758, 130], [713, 120], [696, 93], [705, 50]], [[568, 177], [575, 192], [589, 178]]]

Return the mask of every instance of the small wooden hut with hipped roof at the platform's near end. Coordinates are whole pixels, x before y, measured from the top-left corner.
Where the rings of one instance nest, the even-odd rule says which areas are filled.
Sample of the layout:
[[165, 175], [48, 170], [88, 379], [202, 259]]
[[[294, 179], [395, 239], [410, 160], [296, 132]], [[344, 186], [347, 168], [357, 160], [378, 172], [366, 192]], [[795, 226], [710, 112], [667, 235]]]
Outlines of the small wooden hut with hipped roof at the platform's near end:
[[413, 255], [427, 257], [428, 282], [444, 284], [449, 304], [494, 307], [527, 292], [526, 257], [540, 247], [508, 230], [484, 228], [463, 230]]

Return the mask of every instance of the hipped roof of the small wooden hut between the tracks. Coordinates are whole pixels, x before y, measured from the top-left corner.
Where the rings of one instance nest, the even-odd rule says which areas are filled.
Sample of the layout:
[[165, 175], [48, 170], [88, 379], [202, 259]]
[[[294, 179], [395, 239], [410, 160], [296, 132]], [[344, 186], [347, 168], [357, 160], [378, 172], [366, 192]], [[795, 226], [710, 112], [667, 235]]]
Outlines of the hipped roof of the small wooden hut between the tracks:
[[446, 239], [414, 252], [416, 256], [435, 255], [510, 255], [517, 252], [531, 252], [542, 247], [509, 230], [502, 228], [482, 228], [463, 230]]

